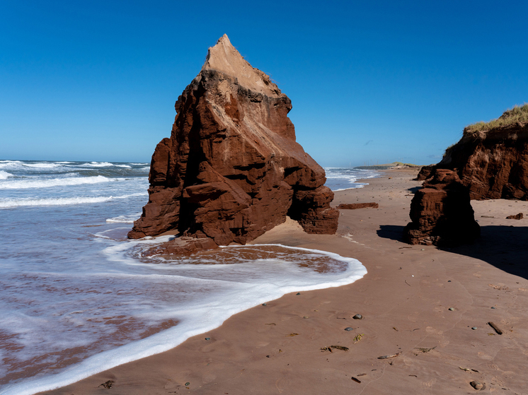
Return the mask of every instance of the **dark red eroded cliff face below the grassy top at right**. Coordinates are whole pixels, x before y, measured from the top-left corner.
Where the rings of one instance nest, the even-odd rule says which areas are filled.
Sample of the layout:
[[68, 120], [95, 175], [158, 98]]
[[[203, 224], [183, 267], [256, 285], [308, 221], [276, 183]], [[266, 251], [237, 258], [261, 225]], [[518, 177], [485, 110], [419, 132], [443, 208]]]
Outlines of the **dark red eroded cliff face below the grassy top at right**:
[[423, 167], [418, 179], [429, 178], [434, 169], [457, 172], [471, 199], [528, 200], [528, 124], [466, 129], [440, 163]]

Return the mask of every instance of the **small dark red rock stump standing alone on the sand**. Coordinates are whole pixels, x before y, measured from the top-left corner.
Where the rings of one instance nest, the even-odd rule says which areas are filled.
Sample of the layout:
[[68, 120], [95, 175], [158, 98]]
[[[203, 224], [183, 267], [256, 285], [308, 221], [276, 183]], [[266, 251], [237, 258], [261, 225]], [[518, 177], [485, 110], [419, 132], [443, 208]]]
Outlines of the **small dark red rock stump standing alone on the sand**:
[[411, 220], [403, 230], [409, 244], [453, 246], [471, 243], [481, 233], [469, 190], [457, 173], [437, 169], [411, 201]]

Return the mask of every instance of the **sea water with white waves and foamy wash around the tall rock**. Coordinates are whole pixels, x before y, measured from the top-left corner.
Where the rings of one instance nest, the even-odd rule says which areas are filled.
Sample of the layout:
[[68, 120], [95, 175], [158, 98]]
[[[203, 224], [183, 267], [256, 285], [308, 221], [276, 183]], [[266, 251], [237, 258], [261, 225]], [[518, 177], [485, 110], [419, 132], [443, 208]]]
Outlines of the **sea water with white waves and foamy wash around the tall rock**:
[[[147, 163], [0, 160], [0, 394], [35, 394], [161, 353], [289, 292], [345, 285], [352, 258], [280, 245], [145, 257], [127, 240]], [[331, 189], [374, 177], [328, 169]]]

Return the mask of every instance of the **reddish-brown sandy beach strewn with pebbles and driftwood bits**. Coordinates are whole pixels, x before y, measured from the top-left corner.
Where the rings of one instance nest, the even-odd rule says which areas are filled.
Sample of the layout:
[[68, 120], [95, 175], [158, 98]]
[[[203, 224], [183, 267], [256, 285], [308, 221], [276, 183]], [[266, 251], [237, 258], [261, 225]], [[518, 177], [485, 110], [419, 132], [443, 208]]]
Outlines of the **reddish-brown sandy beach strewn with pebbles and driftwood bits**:
[[401, 237], [416, 174], [387, 170], [336, 192], [332, 206], [379, 204], [340, 211], [336, 235], [290, 220], [253, 241], [359, 259], [361, 280], [270, 300], [166, 353], [42, 394], [471, 394], [473, 380], [481, 393], [528, 394], [528, 230], [505, 219], [528, 214], [528, 202], [472, 201], [476, 244], [411, 246]]

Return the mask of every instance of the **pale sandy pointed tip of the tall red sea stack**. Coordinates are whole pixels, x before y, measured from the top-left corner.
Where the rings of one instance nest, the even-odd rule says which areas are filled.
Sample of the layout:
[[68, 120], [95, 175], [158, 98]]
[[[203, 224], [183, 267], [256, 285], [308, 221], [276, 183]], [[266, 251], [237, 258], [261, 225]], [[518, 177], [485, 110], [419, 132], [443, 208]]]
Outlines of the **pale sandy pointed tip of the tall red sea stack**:
[[207, 52], [202, 70], [214, 69], [238, 78], [239, 85], [269, 96], [280, 95], [280, 90], [270, 81], [270, 77], [243, 59], [239, 51], [231, 45], [229, 37], [223, 35], [214, 47]]

